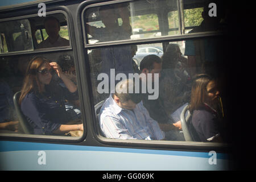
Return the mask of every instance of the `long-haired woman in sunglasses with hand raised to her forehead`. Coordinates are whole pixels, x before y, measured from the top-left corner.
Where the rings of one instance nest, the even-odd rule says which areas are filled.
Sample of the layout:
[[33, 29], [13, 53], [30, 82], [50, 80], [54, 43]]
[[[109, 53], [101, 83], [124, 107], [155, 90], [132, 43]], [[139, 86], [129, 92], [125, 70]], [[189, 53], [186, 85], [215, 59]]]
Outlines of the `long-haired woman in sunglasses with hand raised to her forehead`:
[[[52, 79], [57, 74], [67, 88]], [[61, 71], [59, 65], [43, 57], [34, 57], [28, 64], [19, 98], [23, 114], [34, 134], [65, 134], [83, 131], [82, 124], [68, 125], [69, 115], [64, 100], [78, 100], [77, 86]]]

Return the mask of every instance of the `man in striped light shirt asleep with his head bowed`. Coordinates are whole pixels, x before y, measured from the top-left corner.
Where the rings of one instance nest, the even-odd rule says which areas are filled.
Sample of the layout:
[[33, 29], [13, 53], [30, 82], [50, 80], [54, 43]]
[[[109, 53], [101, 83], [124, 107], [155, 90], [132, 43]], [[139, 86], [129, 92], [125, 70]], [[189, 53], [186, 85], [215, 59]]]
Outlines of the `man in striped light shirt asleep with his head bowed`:
[[[101, 107], [99, 120], [105, 137], [113, 139], [161, 140], [164, 133], [158, 122], [150, 117], [135, 90], [134, 80], [122, 80], [115, 86], [115, 93]], [[123, 91], [123, 92], [122, 92]], [[126, 93], [125, 93], [126, 92]]]

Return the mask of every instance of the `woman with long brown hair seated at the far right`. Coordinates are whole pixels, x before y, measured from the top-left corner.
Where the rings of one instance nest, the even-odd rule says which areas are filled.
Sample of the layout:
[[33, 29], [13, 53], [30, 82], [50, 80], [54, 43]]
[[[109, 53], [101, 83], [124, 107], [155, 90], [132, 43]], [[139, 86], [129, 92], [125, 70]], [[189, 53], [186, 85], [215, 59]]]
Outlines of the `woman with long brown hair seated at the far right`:
[[191, 105], [192, 129], [201, 142], [221, 142], [219, 95], [216, 81], [210, 76], [197, 75], [192, 86]]

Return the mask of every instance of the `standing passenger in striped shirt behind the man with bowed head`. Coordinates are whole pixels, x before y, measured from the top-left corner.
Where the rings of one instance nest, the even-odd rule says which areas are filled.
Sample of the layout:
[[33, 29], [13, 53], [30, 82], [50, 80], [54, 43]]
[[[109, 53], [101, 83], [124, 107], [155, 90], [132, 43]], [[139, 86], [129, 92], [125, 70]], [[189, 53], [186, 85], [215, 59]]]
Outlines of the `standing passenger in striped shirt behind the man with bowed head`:
[[[99, 13], [105, 27], [97, 28], [86, 24], [88, 34], [92, 35], [93, 39], [99, 42], [130, 39], [130, 13], [127, 6], [101, 6]], [[118, 24], [118, 18], [122, 19], [121, 26]], [[102, 48], [98, 55], [101, 56], [101, 73], [106, 73], [109, 77], [110, 69], [115, 69], [115, 76], [118, 73], [125, 73], [128, 77], [129, 73], [134, 73], [130, 46]]]

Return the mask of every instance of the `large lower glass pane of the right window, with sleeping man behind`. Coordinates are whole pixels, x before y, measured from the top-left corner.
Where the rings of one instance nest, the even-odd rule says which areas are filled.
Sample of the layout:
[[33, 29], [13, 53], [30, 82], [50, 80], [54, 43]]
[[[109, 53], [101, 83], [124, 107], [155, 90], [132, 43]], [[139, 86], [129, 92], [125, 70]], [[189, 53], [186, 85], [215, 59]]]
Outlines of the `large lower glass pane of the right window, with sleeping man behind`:
[[[185, 141], [184, 133], [189, 132], [195, 136], [193, 140], [197, 142], [207, 142], [207, 139], [212, 139], [209, 137], [211, 134], [207, 134], [205, 137], [208, 138], [203, 140], [202, 136], [197, 134], [201, 131], [196, 128], [196, 123], [194, 123], [195, 126], [189, 125], [188, 130], [182, 130], [180, 114], [185, 106], [192, 104], [191, 100], [194, 97], [192, 96], [193, 76], [205, 73], [214, 79], [216, 78], [218, 84], [223, 84], [224, 77], [221, 69], [219, 69], [223, 63], [221, 41], [220, 37], [183, 40], [170, 42], [164, 49], [162, 43], [90, 49], [88, 51], [90, 77], [93, 101], [97, 109], [96, 126], [99, 133], [103, 137], [114, 139]], [[202, 45], [200, 46], [200, 44]], [[202, 46], [204, 49], [199, 52], [195, 51]], [[130, 49], [130, 52], [128, 49]], [[202, 55], [198, 55], [198, 53]], [[195, 58], [195, 64], [190, 62], [193, 57]], [[136, 79], [135, 73], [139, 75], [159, 73], [159, 75], [158, 78], [152, 80], [146, 77], [146, 81], [150, 81], [156, 87], [151, 90], [153, 91], [151, 93], [138, 94], [142, 103], [139, 102], [133, 109], [127, 109], [127, 105], [119, 105], [118, 100], [116, 100], [115, 96], [122, 96], [118, 95], [115, 86], [126, 78], [133, 78], [130, 76], [134, 76]], [[140, 78], [139, 75], [138, 79], [143, 82], [143, 78]], [[218, 88], [216, 86], [215, 89], [218, 90], [218, 98], [221, 97], [222, 100], [225, 100], [225, 97], [222, 97], [221, 94], [224, 88], [223, 85], [221, 86]], [[155, 97], [151, 99], [148, 96]], [[122, 101], [120, 102], [122, 103]], [[224, 115], [221, 114], [223, 105], [220, 106], [219, 101], [216, 103], [209, 102], [216, 112], [220, 112], [216, 120], [224, 119]], [[143, 113], [142, 110], [144, 109], [148, 113], [146, 111]], [[112, 115], [108, 112], [112, 112]], [[193, 113], [193, 111], [191, 112]], [[136, 117], [134, 117], [134, 114]], [[144, 117], [140, 117], [141, 114]], [[148, 126], [144, 123], [143, 118], [147, 118], [147, 121], [156, 122], [159, 128], [154, 127], [154, 129], [158, 133], [152, 134], [151, 131], [146, 131]], [[209, 116], [207, 119], [212, 118]], [[136, 122], [142, 123], [142, 125], [138, 126]], [[215, 124], [217, 125], [217, 123]], [[138, 129], [139, 135], [134, 133], [132, 126]], [[211, 127], [213, 127], [211, 131], [216, 136], [218, 132], [225, 136], [225, 131], [222, 133], [222, 131], [214, 130], [215, 126]], [[160, 131], [163, 131], [165, 137]], [[214, 136], [212, 137], [214, 138]]]

